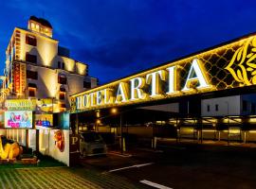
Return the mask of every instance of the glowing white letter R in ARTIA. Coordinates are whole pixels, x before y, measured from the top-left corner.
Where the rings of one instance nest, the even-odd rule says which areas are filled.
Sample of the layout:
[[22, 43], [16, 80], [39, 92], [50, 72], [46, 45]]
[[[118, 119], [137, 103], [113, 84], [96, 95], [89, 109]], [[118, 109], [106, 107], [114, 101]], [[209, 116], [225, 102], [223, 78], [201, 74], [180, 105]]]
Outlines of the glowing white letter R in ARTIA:
[[130, 80], [131, 82], [131, 100], [145, 98], [142, 88], [145, 85], [145, 79], [142, 77], [135, 77]]

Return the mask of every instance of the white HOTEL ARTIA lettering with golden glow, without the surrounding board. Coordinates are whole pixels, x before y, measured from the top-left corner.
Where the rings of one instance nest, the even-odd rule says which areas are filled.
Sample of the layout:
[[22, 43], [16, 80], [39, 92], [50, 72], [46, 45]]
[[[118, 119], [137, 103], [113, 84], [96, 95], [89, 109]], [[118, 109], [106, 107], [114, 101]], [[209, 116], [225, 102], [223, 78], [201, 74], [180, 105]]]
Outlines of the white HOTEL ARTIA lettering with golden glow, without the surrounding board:
[[[89, 94], [76, 96], [76, 109], [89, 110], [132, 104], [161, 99], [165, 96], [192, 93], [194, 90], [210, 90], [211, 86], [200, 60], [192, 60], [186, 81], [180, 89], [177, 87], [180, 85], [177, 77], [179, 69], [181, 69], [181, 66], [175, 64], [165, 69], [142, 73], [142, 76], [139, 77], [128, 77], [125, 81], [120, 80], [119, 82], [113, 82], [113, 84], [110, 83], [109, 87], [106, 86]], [[165, 83], [165, 85], [162, 83]], [[192, 83], [196, 83], [196, 87], [192, 86]], [[110, 87], [110, 85], [112, 86]], [[163, 87], [166, 85], [167, 87]]]

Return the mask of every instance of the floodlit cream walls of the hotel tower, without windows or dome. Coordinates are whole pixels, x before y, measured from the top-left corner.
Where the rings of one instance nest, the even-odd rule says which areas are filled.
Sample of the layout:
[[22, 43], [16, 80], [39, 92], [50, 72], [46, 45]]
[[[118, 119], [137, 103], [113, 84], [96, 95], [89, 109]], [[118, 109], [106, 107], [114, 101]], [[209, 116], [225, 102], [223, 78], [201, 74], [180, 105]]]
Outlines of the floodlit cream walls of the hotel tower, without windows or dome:
[[[27, 35], [31, 35], [36, 38], [36, 46], [26, 43]], [[94, 77], [88, 77], [88, 65], [77, 60], [72, 60], [58, 55], [58, 43], [58, 41], [53, 40], [44, 34], [15, 28], [6, 51], [7, 60], [5, 77], [7, 77], [7, 79], [5, 82], [7, 82], [7, 86], [3, 87], [2, 90], [7, 93], [2, 93], [2, 99], [5, 99], [6, 97], [15, 98], [16, 95], [19, 95], [19, 98], [27, 98], [28, 83], [36, 84], [37, 90], [36, 95], [34, 96], [36, 98], [59, 99], [60, 87], [64, 88], [65, 99], [61, 100], [62, 103], [67, 103], [69, 101], [70, 94], [77, 94], [86, 90], [83, 88], [83, 81], [91, 82], [91, 87], [96, 87], [98, 80]], [[35, 55], [37, 57], [37, 62], [27, 62], [26, 53]], [[15, 90], [14, 85], [16, 86], [17, 84], [12, 80], [12, 64], [16, 62], [19, 63], [20, 61], [22, 61], [22, 65], [26, 64], [27, 70], [37, 72], [38, 79], [27, 78], [25, 74], [25, 85], [21, 85], [24, 86], [24, 88], [20, 87], [21, 90]], [[62, 64], [62, 67], [60, 68], [58, 66], [59, 61]], [[61, 85], [58, 83], [59, 75], [64, 75], [66, 77], [66, 84]], [[23, 80], [22, 78], [19, 77], [19, 79]], [[17, 91], [19, 91], [19, 93]], [[66, 107], [69, 107], [69, 105], [66, 104]]]

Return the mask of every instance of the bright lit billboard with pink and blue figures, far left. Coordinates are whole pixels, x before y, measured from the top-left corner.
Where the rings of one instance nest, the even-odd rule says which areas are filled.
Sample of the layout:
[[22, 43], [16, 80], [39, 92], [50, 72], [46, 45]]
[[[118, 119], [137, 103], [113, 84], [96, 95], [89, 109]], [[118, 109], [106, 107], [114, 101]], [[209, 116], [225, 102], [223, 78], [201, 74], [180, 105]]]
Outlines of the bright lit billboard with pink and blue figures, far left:
[[5, 112], [5, 128], [32, 128], [32, 112]]

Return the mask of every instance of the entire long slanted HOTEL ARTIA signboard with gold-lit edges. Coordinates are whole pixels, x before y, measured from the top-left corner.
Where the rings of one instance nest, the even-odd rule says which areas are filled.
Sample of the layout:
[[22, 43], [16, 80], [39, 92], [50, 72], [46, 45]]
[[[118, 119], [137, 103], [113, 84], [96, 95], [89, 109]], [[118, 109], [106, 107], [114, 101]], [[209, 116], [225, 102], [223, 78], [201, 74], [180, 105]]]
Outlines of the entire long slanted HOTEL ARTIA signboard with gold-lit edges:
[[142, 103], [256, 84], [256, 36], [71, 96], [71, 112]]

